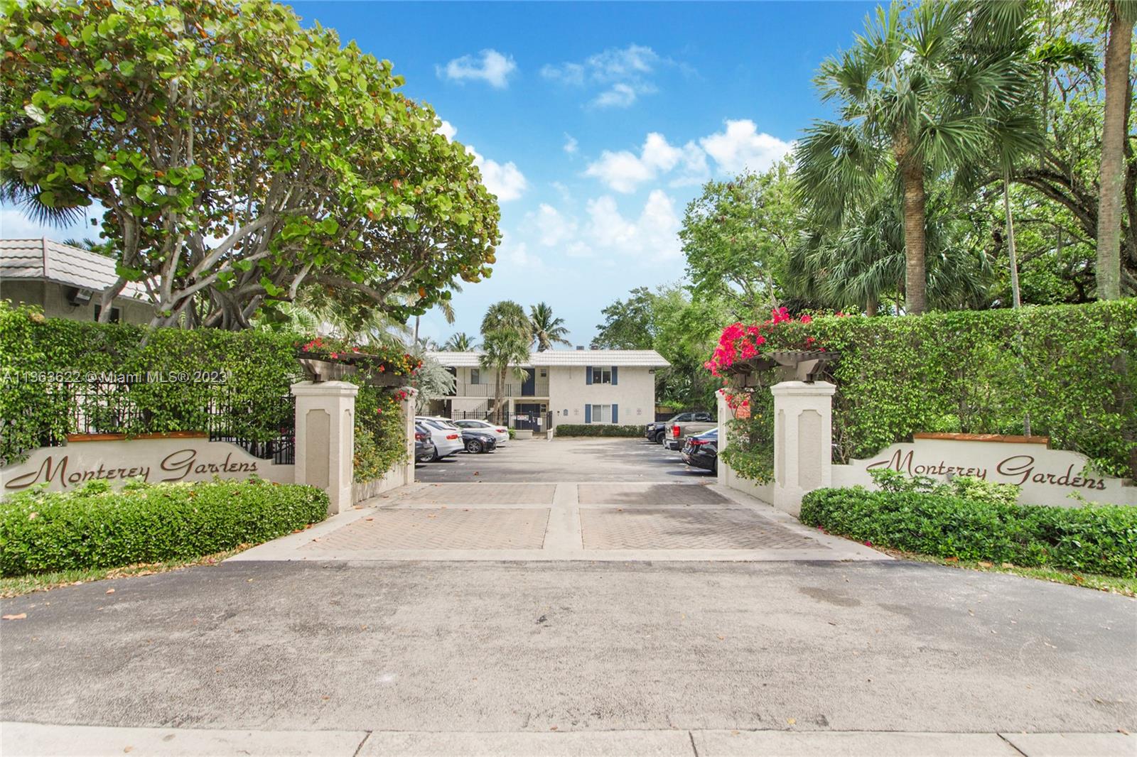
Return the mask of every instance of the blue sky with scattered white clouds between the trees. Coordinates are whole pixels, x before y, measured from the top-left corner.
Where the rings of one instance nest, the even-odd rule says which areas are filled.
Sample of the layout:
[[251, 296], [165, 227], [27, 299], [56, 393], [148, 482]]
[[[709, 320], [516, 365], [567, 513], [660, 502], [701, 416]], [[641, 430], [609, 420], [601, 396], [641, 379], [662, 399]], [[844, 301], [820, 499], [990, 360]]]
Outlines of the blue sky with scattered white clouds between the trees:
[[[682, 277], [675, 232], [703, 181], [767, 167], [825, 115], [811, 78], [874, 3], [292, 7], [393, 61], [500, 200], [492, 277], [455, 296], [453, 326], [424, 317], [423, 335], [474, 334], [508, 298], [548, 302], [587, 343], [613, 300]], [[73, 233], [10, 208], [0, 224], [9, 238]]]

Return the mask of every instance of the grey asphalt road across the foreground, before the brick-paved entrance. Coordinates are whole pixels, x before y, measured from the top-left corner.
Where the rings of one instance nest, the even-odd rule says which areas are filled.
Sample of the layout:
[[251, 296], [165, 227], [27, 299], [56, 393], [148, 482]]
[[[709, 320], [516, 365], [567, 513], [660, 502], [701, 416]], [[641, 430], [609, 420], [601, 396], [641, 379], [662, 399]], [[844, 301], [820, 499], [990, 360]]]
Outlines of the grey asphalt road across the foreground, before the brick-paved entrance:
[[903, 561], [226, 563], [0, 608], [5, 721], [1137, 730], [1137, 601]]

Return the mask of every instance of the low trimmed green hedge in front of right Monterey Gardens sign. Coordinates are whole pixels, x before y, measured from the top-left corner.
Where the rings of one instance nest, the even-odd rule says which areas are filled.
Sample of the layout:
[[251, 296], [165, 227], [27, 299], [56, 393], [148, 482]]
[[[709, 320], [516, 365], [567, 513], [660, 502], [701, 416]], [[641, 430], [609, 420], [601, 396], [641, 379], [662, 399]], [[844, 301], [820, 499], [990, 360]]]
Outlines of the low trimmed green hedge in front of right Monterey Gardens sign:
[[1137, 508], [1043, 507], [921, 491], [819, 489], [802, 523], [935, 557], [1137, 577]]

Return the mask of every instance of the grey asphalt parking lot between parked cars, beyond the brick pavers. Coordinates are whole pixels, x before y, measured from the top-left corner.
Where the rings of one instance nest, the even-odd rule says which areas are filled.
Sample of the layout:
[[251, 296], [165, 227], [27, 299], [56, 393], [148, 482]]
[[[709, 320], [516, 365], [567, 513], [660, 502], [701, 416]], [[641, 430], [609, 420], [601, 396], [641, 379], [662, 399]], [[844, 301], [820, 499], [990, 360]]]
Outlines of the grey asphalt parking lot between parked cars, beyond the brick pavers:
[[688, 467], [678, 451], [644, 439], [514, 439], [493, 452], [458, 452], [415, 466], [428, 483], [657, 481], [708, 482], [714, 476]]

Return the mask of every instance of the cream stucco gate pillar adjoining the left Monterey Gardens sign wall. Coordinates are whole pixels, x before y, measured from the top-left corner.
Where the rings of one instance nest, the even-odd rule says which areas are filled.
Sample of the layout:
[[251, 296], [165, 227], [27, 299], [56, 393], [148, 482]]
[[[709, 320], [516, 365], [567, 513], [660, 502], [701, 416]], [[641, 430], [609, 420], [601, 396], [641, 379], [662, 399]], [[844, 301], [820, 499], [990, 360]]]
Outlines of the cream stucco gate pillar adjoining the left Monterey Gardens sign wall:
[[296, 482], [326, 491], [332, 514], [351, 507], [355, 398], [358, 392], [358, 386], [346, 381], [292, 384]]

